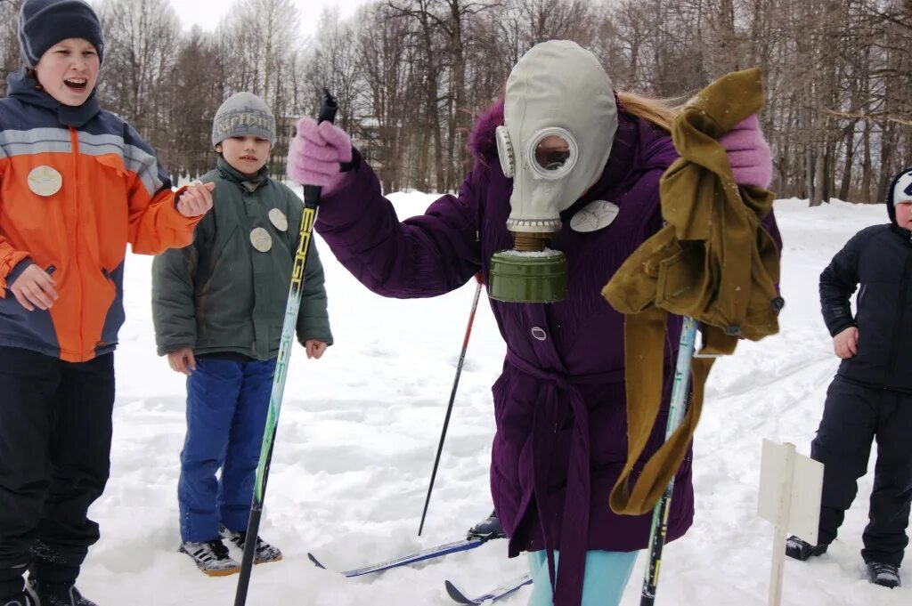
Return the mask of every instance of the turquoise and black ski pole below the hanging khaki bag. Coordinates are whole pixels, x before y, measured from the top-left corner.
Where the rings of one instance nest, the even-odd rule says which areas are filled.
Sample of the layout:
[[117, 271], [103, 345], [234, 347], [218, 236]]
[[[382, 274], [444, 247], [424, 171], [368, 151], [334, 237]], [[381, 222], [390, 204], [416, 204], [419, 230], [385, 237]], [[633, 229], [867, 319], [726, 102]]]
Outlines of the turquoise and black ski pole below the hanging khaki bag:
[[[697, 338], [697, 321], [686, 316], [681, 326], [681, 338], [678, 345], [678, 361], [675, 365], [674, 383], [671, 385], [671, 405], [668, 410], [668, 425], [665, 437], [671, 436], [681, 424], [687, 409], [690, 387], [690, 362], [693, 360], [693, 344]], [[668, 535], [668, 511], [671, 509], [671, 493], [675, 488], [675, 478], [671, 477], [668, 488], [652, 510], [652, 528], [649, 530], [649, 560], [646, 567], [646, 578], [643, 580], [643, 594], [640, 606], [652, 606], [656, 601], [658, 589], [658, 572], [662, 567], [662, 549]]]

